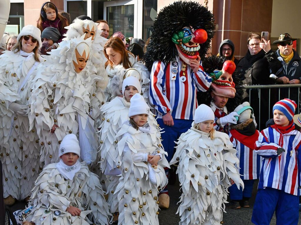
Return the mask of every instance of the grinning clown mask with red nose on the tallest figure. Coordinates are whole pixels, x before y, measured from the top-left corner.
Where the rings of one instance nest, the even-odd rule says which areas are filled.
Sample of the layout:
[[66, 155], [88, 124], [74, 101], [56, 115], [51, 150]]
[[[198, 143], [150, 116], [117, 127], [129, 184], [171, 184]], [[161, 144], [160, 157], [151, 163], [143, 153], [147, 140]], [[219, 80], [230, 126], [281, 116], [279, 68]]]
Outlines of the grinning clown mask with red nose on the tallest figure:
[[203, 29], [195, 30], [192, 27], [184, 27], [181, 31], [172, 35], [172, 42], [182, 60], [190, 64], [190, 59], [196, 59], [199, 55], [200, 44], [206, 42], [208, 36]]

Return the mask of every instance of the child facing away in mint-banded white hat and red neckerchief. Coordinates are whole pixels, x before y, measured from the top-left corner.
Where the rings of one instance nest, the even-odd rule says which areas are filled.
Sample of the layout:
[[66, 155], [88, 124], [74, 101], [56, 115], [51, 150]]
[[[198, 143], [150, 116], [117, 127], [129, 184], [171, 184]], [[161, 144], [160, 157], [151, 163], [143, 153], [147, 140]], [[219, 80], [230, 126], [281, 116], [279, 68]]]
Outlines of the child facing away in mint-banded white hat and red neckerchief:
[[244, 190], [235, 185], [229, 187], [231, 202], [226, 205], [229, 208], [239, 209], [250, 207], [249, 199], [252, 196], [253, 184], [259, 178], [262, 158], [254, 151], [254, 143], [257, 141], [259, 131], [256, 130], [256, 121], [253, 109], [249, 102], [244, 102], [234, 109], [239, 116], [237, 125], [230, 126], [230, 141], [236, 149], [239, 159], [240, 178], [244, 182]]

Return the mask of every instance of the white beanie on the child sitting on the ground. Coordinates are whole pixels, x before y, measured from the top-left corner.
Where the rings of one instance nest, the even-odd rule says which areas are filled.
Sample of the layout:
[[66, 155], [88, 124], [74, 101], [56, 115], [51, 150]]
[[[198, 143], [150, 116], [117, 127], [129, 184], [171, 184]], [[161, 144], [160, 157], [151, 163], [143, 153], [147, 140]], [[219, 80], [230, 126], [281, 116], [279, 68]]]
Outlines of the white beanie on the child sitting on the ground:
[[58, 156], [61, 157], [69, 152], [75, 153], [80, 157], [79, 141], [75, 134], [67, 134], [63, 138], [60, 148], [58, 149]]

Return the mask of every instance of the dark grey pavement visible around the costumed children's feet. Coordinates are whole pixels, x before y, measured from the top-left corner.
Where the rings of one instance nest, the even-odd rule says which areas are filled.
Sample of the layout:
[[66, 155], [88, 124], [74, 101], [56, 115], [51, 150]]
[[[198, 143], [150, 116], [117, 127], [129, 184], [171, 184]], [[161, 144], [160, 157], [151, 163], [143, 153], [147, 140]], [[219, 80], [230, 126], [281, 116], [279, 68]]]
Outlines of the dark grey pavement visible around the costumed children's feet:
[[[224, 224], [228, 225], [251, 225], [251, 217], [253, 211], [253, 205], [255, 200], [255, 195], [257, 191], [257, 182], [254, 184], [253, 188], [253, 197], [250, 199], [250, 208], [240, 208], [240, 209], [231, 209], [226, 208], [227, 213], [224, 213], [223, 221]], [[179, 197], [181, 193], [179, 192], [179, 183], [178, 181], [174, 185], [169, 185], [169, 195], [170, 205], [168, 209], [163, 209], [159, 214], [159, 222], [160, 225], [177, 225], [180, 221], [180, 217], [175, 214], [178, 209], [177, 202], [179, 201]], [[24, 202], [17, 202], [12, 206], [12, 210], [16, 211], [18, 209], [25, 208]], [[272, 218], [270, 223], [271, 225], [276, 225], [275, 215]], [[301, 225], [301, 212], [299, 212], [299, 225]]]

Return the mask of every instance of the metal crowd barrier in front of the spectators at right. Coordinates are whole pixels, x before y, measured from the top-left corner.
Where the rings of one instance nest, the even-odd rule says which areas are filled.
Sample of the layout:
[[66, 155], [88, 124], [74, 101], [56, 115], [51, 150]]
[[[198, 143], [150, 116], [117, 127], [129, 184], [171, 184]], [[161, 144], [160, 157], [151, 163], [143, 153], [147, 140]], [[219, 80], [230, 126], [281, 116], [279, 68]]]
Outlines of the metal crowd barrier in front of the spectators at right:
[[[278, 101], [281, 100], [280, 98], [280, 93], [281, 90], [284, 91], [283, 89], [284, 88], [288, 88], [288, 98], [290, 98], [290, 88], [298, 88], [298, 100], [296, 102], [297, 104], [297, 109], [296, 109], [296, 112], [295, 114], [298, 114], [300, 113], [300, 87], [301, 87], [301, 84], [277, 84], [277, 85], [244, 85], [243, 88], [245, 91], [249, 90], [249, 103], [252, 107], [252, 105], [254, 106], [256, 104], [256, 102], [252, 102], [251, 101], [251, 96], [254, 95], [254, 94], [258, 94], [258, 98], [259, 98], [259, 102], [257, 103], [259, 105], [259, 115], [255, 115], [255, 119], [256, 119], [256, 122], [258, 122], [259, 124], [259, 131], [261, 131], [261, 127], [260, 127], [260, 123], [261, 123], [261, 112], [262, 110], [265, 110], [265, 109], [262, 109], [261, 108], [261, 90], [262, 89], [268, 89], [268, 115], [269, 115], [269, 119], [272, 118], [272, 112], [271, 112], [271, 89], [274, 89], [274, 88], [278, 88]], [[257, 119], [258, 118], [258, 119]]]

